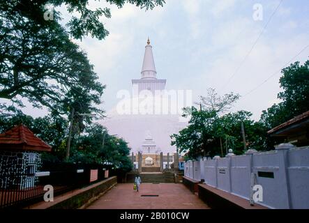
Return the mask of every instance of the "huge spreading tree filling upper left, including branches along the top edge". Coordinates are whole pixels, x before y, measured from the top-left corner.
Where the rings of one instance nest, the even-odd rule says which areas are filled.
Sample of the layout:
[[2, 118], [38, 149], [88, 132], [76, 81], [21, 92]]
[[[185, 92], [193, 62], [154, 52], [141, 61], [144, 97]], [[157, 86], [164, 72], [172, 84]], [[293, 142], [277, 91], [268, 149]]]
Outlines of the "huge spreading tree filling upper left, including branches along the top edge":
[[[107, 0], [121, 8], [124, 3], [152, 9], [164, 0]], [[108, 35], [100, 17], [109, 18], [109, 8], [90, 10], [88, 0], [12, 0], [0, 3], [0, 98], [22, 105], [27, 98], [33, 106], [46, 106], [54, 114], [68, 114], [82, 98], [82, 109], [103, 111], [100, 104], [104, 86], [93, 66], [77, 45], [70, 41], [91, 35], [100, 40]], [[67, 26], [59, 24], [60, 13], [46, 20], [47, 6], [65, 4], [72, 16]], [[68, 29], [66, 29], [68, 27]]]

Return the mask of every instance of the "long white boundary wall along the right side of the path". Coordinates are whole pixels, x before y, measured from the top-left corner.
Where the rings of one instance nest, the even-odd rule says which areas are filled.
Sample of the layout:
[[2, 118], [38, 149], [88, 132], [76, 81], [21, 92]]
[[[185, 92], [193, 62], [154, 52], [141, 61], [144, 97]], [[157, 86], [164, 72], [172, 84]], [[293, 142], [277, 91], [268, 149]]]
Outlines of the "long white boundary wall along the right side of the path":
[[[309, 208], [309, 147], [280, 144], [276, 151], [185, 163], [185, 176], [250, 199], [250, 180], [263, 187], [269, 208]], [[248, 201], [249, 202], [249, 201]]]

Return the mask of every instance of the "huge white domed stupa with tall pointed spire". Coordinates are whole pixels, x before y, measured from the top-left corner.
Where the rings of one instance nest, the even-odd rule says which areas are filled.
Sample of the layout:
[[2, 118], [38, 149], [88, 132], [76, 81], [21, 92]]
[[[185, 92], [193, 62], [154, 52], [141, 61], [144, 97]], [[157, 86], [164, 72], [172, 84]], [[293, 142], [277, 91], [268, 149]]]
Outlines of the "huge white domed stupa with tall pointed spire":
[[[133, 79], [133, 95], [121, 100], [107, 112], [101, 124], [110, 134], [126, 141], [132, 152], [174, 153], [170, 135], [178, 133], [188, 122], [181, 118], [183, 98], [165, 90], [165, 79], [157, 79], [152, 46], [145, 47], [141, 79]], [[188, 96], [188, 95], [187, 95]], [[190, 95], [189, 95], [190, 96]], [[186, 100], [188, 103], [189, 100]], [[190, 106], [186, 104], [186, 106]]]

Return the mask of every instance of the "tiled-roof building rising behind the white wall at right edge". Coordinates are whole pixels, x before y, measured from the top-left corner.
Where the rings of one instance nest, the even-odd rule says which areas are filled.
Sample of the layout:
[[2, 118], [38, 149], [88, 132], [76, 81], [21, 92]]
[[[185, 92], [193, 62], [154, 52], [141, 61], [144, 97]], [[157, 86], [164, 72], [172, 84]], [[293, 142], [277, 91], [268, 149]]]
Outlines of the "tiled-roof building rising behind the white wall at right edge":
[[296, 146], [308, 146], [309, 111], [278, 125], [267, 133], [279, 141], [286, 141]]

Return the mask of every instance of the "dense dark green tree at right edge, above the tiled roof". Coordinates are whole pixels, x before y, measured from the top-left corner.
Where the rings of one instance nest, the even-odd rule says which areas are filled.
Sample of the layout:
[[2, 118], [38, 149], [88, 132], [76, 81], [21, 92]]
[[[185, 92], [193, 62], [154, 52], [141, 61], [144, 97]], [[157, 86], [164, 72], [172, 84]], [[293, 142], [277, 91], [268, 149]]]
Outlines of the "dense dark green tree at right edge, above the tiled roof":
[[309, 110], [309, 61], [303, 65], [295, 62], [282, 69], [280, 87], [283, 91], [278, 93], [278, 98], [282, 102], [262, 112], [260, 121], [268, 129]]

